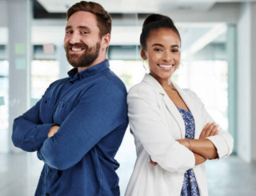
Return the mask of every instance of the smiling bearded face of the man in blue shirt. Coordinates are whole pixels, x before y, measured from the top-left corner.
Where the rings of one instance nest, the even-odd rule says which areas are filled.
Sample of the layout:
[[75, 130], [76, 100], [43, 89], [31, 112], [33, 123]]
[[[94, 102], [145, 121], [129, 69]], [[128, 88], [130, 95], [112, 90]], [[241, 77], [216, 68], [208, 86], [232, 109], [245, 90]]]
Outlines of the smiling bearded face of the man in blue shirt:
[[96, 16], [90, 12], [78, 11], [66, 23], [64, 46], [66, 58], [74, 67], [91, 66], [98, 58], [101, 39]]

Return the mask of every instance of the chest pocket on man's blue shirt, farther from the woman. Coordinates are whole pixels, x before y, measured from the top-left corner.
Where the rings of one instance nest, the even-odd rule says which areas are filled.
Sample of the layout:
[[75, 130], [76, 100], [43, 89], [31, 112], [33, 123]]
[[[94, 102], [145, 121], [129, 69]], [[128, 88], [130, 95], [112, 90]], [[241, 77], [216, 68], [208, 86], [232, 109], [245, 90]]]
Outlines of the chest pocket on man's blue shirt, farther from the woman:
[[51, 123], [51, 117], [54, 109], [54, 101], [42, 98], [42, 102], [40, 104], [40, 118], [42, 120], [42, 124]]

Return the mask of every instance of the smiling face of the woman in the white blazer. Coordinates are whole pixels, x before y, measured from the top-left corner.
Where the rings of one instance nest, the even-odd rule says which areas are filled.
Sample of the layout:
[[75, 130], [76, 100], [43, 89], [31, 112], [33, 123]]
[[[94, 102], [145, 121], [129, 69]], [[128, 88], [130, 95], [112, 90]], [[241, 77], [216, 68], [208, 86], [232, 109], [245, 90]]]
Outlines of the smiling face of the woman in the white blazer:
[[148, 60], [150, 74], [159, 80], [168, 80], [177, 70], [180, 58], [180, 38], [173, 30], [160, 29], [151, 32], [146, 40], [142, 58]]

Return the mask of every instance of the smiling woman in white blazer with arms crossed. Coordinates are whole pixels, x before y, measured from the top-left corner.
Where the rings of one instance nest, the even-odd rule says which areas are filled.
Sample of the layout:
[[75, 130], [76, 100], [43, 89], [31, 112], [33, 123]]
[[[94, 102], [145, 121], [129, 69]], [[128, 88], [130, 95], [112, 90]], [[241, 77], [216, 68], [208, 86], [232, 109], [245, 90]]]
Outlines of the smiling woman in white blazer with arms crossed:
[[150, 74], [127, 98], [138, 158], [126, 196], [206, 196], [204, 162], [229, 156], [233, 138], [214, 123], [194, 92], [171, 81], [181, 58], [172, 20], [148, 16], [140, 42]]

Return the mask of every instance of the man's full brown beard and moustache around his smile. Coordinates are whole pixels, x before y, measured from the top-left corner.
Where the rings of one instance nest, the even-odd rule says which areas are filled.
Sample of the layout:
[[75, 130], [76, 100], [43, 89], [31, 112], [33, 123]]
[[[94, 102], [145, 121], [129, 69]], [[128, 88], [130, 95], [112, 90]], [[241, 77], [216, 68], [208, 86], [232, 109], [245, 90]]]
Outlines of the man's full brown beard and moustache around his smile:
[[[70, 48], [72, 46], [84, 48], [82, 54], [70, 54]], [[100, 42], [96, 43], [96, 46], [94, 47], [88, 47], [86, 44], [68, 44], [65, 47], [66, 50], [66, 59], [68, 62], [70, 62], [71, 66], [74, 66], [75, 68], [78, 67], [86, 67], [90, 66], [96, 58], [98, 58], [99, 50], [101, 48]]]

